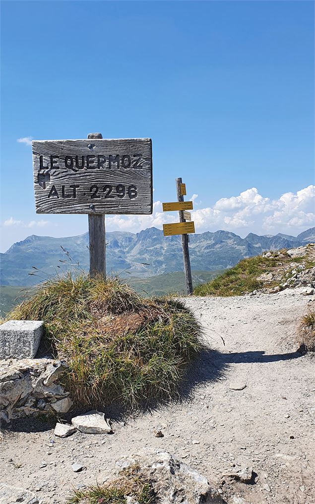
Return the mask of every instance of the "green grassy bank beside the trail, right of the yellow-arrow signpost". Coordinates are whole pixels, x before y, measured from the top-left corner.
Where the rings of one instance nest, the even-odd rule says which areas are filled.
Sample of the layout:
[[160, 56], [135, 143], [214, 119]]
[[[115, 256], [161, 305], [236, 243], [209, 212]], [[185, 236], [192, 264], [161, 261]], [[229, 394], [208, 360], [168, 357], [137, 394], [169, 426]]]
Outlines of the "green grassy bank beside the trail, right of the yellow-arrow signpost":
[[[241, 296], [246, 292], [253, 292], [264, 286], [257, 277], [270, 271], [278, 263], [279, 258], [276, 257], [256, 256], [243, 259], [210, 282], [198, 285], [194, 294], [196, 296]], [[269, 286], [272, 287], [273, 283]]]

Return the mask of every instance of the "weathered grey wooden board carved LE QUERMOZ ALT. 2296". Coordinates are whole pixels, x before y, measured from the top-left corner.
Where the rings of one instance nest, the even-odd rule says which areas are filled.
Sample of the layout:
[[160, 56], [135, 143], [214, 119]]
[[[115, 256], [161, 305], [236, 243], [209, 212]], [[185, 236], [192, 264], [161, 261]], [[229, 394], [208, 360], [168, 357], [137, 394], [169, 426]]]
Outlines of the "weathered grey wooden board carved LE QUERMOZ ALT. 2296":
[[38, 214], [152, 214], [148, 138], [34, 140]]

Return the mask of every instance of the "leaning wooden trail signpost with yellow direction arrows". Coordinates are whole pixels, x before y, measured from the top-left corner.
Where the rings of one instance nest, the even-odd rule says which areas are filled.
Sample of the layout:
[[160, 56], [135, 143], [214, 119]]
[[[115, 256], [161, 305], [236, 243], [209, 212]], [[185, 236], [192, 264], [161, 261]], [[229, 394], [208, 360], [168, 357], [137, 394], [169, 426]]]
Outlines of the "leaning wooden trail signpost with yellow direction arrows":
[[191, 260], [189, 257], [189, 236], [187, 233], [195, 233], [195, 223], [186, 222], [186, 220], [191, 221], [192, 216], [190, 212], [186, 210], [193, 210], [193, 202], [185, 201], [184, 195], [186, 194], [186, 185], [182, 183], [181, 178], [176, 178], [176, 192], [177, 192], [177, 202], [174, 203], [163, 203], [163, 211], [169, 212], [173, 210], [179, 210], [179, 222], [174, 224], [163, 224], [164, 236], [172, 236], [174, 234], [181, 235], [182, 244], [182, 257], [184, 262], [184, 272], [186, 280], [186, 290], [187, 294], [192, 294], [193, 292], [193, 280], [192, 280], [192, 270], [191, 270]]

